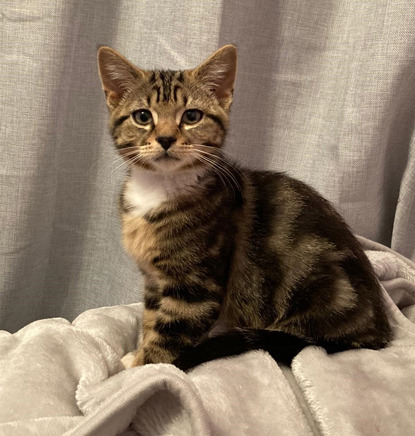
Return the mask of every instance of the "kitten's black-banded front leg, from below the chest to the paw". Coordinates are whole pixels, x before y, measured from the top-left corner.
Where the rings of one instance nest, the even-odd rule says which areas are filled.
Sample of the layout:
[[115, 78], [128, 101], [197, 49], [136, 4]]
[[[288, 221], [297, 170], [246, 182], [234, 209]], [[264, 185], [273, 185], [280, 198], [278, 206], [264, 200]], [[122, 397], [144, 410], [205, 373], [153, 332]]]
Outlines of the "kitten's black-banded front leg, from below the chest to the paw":
[[222, 298], [213, 284], [165, 286], [158, 298], [146, 292], [143, 343], [133, 366], [172, 363], [196, 345], [218, 319]]

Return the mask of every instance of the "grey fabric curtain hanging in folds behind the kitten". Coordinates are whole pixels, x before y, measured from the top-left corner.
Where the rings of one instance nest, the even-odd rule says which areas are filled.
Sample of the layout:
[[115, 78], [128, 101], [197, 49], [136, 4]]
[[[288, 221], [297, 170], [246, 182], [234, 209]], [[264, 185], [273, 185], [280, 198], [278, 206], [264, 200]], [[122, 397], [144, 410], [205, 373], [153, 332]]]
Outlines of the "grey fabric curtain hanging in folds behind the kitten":
[[188, 68], [235, 43], [227, 150], [317, 188], [415, 258], [415, 3], [8, 1], [0, 15], [0, 328], [141, 299], [96, 69]]

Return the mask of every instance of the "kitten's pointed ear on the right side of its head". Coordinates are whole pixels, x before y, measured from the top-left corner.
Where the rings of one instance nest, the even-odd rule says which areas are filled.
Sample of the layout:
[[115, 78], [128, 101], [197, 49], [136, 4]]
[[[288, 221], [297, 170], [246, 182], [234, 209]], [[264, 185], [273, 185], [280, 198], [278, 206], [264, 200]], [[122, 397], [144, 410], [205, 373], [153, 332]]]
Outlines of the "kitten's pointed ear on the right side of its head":
[[215, 51], [202, 65], [193, 70], [195, 77], [204, 82], [219, 100], [232, 97], [236, 76], [236, 47], [225, 45]]

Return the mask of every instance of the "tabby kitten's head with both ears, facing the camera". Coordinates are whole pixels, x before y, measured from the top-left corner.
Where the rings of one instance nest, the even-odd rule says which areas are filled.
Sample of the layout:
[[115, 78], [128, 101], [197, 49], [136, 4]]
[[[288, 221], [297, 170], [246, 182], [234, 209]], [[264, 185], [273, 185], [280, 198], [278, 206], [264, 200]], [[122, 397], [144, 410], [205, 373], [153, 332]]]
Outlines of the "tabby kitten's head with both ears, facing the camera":
[[214, 167], [229, 124], [236, 49], [185, 71], [142, 70], [101, 47], [98, 66], [119, 153], [156, 172]]

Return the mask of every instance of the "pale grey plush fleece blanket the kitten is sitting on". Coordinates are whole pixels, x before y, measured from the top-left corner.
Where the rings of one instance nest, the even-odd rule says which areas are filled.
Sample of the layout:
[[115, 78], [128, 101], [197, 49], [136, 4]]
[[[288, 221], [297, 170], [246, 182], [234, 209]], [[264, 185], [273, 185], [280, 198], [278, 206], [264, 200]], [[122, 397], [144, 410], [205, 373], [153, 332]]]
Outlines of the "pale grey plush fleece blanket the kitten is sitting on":
[[308, 347], [291, 369], [255, 351], [189, 374], [123, 370], [142, 304], [40, 320], [0, 332], [0, 435], [414, 435], [415, 265], [361, 243], [384, 288], [388, 348]]

